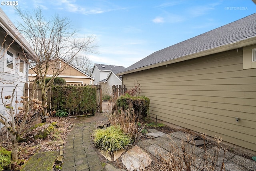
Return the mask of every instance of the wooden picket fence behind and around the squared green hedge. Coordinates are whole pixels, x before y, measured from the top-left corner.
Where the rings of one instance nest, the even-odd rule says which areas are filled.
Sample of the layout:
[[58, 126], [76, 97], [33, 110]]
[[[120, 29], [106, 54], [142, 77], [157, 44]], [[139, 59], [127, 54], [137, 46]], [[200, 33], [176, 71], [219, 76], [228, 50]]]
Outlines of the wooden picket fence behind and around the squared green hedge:
[[[90, 86], [90, 85], [78, 85], [78, 86]], [[102, 112], [102, 88], [101, 85], [93, 85], [96, 87], [96, 112]], [[24, 86], [24, 96], [32, 97], [32, 90], [33, 90], [33, 84], [25, 83]], [[42, 101], [42, 89], [40, 87], [36, 87], [35, 93], [34, 93], [34, 99], [38, 99]], [[52, 111], [52, 92], [51, 89], [47, 91], [47, 105], [48, 105], [48, 111]]]

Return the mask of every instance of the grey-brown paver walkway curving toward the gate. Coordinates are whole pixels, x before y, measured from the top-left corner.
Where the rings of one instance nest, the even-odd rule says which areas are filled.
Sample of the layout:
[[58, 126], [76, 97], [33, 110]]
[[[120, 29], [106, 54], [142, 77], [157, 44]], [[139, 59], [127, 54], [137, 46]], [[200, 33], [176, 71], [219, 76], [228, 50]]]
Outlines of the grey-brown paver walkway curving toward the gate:
[[78, 119], [81, 121], [74, 124], [64, 144], [62, 170], [102, 170], [98, 150], [90, 135], [95, 129], [95, 121], [106, 120], [107, 117], [100, 115]]

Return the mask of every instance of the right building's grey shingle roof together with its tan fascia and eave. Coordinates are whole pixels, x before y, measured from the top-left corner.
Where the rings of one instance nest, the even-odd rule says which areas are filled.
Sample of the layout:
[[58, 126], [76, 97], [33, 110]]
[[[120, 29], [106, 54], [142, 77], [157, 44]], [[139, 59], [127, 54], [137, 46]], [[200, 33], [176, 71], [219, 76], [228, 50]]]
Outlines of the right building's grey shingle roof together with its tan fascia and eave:
[[251, 44], [256, 44], [256, 13], [154, 52], [117, 75], [155, 68]]

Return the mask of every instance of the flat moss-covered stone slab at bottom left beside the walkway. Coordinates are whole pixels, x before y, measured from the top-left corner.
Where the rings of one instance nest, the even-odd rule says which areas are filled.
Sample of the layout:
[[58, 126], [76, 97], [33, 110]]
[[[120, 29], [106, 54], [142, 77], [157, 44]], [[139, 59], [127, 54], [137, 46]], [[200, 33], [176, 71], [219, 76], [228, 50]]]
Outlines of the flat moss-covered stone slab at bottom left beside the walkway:
[[21, 170], [51, 171], [59, 151], [36, 153], [24, 164]]

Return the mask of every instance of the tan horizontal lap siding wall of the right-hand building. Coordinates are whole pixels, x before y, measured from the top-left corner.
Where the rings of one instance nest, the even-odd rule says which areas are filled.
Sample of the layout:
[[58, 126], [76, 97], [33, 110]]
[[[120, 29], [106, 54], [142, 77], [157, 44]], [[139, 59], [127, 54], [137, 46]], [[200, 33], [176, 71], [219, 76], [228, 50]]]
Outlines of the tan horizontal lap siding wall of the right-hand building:
[[242, 62], [232, 50], [126, 74], [123, 84], [138, 81], [151, 117], [256, 151], [256, 69]]

